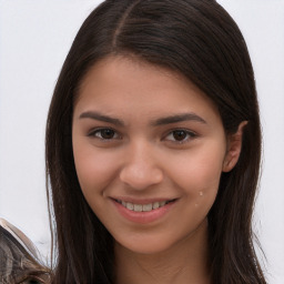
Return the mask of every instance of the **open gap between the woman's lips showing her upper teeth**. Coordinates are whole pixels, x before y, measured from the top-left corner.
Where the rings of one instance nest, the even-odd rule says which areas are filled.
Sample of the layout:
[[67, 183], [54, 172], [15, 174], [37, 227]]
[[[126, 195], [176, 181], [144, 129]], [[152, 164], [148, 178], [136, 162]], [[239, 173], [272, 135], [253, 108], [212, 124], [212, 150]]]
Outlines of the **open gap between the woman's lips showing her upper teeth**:
[[114, 201], [116, 203], [121, 204], [122, 206], [124, 206], [125, 209], [133, 211], [133, 212], [150, 212], [150, 211], [161, 209], [169, 203], [173, 203], [176, 201], [176, 199], [155, 201], [155, 202], [148, 203], [148, 204], [132, 203], [132, 202], [126, 202], [126, 201], [116, 200], [116, 199], [114, 199]]

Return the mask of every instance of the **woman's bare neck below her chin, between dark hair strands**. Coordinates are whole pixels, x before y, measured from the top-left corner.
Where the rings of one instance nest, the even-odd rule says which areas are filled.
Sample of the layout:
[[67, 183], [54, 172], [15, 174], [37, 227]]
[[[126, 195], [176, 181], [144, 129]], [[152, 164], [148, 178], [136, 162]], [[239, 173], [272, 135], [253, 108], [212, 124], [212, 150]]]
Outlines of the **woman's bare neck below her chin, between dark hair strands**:
[[207, 222], [172, 247], [135, 253], [115, 243], [116, 284], [210, 284]]

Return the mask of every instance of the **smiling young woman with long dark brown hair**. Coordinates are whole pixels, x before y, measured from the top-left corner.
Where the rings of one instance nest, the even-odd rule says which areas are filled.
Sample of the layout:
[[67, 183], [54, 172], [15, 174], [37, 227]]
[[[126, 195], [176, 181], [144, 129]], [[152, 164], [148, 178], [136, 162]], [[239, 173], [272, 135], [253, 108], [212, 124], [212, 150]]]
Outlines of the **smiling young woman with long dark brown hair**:
[[84, 21], [47, 125], [52, 283], [266, 283], [244, 39], [214, 0], [106, 0]]

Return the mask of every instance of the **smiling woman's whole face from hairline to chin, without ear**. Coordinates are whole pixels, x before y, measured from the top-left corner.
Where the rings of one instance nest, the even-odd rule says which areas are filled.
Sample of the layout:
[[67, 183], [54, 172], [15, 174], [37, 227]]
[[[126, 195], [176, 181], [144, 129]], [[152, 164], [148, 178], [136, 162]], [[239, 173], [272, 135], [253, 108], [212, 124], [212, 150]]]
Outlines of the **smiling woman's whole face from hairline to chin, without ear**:
[[72, 140], [83, 195], [120, 245], [161, 252], [206, 220], [226, 136], [215, 105], [182, 75], [100, 61], [82, 82]]

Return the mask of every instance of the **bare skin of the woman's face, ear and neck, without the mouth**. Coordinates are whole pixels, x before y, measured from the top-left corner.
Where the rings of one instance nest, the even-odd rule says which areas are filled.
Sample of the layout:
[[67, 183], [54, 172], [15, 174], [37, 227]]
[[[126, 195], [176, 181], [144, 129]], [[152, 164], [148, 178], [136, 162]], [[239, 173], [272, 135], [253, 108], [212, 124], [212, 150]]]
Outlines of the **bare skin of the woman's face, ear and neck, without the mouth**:
[[[244, 125], [227, 138], [200, 89], [138, 59], [109, 57], [88, 72], [73, 112], [74, 162], [87, 202], [115, 240], [116, 283], [210, 283], [206, 215], [222, 172], [237, 162]], [[113, 199], [175, 202], [136, 223]]]

